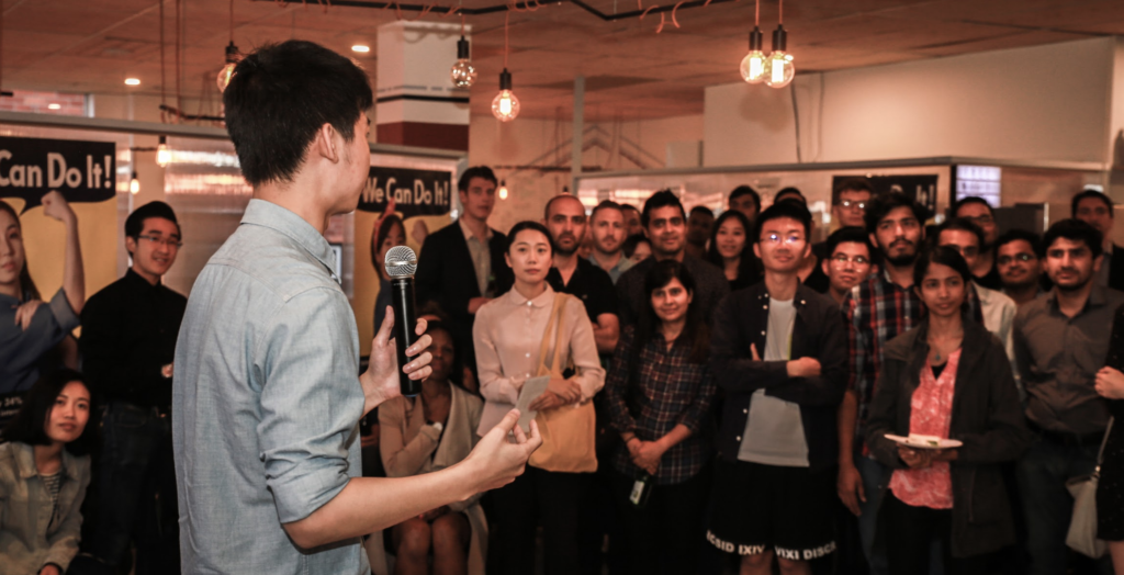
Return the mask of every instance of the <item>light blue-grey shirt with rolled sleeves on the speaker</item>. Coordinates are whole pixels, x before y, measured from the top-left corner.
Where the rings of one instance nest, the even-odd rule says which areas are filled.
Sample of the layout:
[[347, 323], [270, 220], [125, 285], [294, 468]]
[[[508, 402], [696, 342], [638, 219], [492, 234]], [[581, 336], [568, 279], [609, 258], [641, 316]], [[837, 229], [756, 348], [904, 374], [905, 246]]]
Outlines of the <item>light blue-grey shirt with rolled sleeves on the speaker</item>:
[[172, 439], [184, 573], [365, 574], [359, 538], [299, 549], [361, 474], [359, 334], [312, 226], [251, 200], [196, 280], [175, 348]]

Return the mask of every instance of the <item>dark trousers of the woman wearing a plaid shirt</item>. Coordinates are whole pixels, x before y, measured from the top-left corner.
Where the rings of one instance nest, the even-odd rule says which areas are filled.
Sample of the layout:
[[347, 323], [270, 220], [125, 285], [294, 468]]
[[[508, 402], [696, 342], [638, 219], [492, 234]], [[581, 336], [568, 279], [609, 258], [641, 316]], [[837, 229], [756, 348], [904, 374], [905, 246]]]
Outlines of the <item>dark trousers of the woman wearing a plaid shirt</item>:
[[625, 530], [626, 574], [698, 572], [710, 485], [706, 471], [677, 485], [655, 485], [644, 509], [628, 501], [635, 478], [614, 472], [613, 498]]

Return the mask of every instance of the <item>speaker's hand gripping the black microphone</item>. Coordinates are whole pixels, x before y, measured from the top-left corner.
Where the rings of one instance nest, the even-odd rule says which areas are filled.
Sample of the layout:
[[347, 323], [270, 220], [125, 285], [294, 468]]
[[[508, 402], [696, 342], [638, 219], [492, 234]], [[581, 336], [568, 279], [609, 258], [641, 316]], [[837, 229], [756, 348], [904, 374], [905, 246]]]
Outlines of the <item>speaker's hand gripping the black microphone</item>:
[[[366, 399], [364, 413], [370, 412], [383, 401], [401, 395], [398, 385], [398, 349], [395, 340], [390, 337], [390, 330], [393, 326], [395, 310], [387, 305], [387, 317], [383, 318], [382, 326], [379, 327], [379, 332], [375, 334], [374, 341], [371, 343], [369, 367], [360, 376], [360, 383], [363, 384], [363, 395]], [[414, 358], [402, 367], [402, 371], [409, 374], [410, 380], [425, 380], [433, 373], [433, 367], [429, 367], [433, 356], [425, 350], [433, 343], [433, 338], [425, 335], [427, 327], [424, 319], [418, 320], [414, 332], [420, 338], [406, 349], [407, 357]]]

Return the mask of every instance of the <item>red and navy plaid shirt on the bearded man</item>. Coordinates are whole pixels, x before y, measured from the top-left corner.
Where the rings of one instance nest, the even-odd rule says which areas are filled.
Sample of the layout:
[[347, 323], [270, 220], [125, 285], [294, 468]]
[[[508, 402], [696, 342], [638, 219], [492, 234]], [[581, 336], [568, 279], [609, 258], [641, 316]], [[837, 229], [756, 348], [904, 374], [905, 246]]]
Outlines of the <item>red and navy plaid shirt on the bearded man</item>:
[[[968, 311], [984, 323], [979, 295], [968, 284]], [[909, 331], [925, 316], [925, 304], [913, 286], [901, 288], [890, 281], [888, 273], [871, 276], [851, 289], [843, 300], [843, 323], [847, 328], [847, 355], [851, 374], [847, 390], [859, 399], [855, 418], [854, 453], [865, 455], [867, 417], [874, 398], [874, 382], [882, 366], [886, 343]]]

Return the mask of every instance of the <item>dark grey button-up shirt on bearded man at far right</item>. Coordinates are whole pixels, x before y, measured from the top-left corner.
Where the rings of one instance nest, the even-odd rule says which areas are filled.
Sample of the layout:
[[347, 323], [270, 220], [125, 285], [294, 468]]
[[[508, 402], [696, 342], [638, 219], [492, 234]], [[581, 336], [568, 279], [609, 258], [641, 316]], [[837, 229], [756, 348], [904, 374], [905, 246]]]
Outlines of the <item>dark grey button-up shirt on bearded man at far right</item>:
[[1069, 318], [1057, 289], [1025, 303], [1015, 316], [1015, 365], [1026, 390], [1026, 417], [1050, 431], [1104, 431], [1108, 407], [1094, 389], [1105, 366], [1113, 313], [1124, 293], [1094, 285], [1085, 309]]

